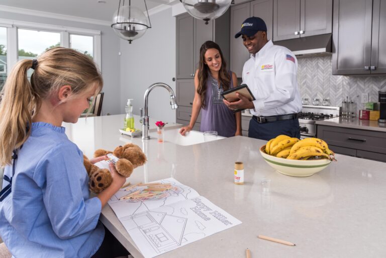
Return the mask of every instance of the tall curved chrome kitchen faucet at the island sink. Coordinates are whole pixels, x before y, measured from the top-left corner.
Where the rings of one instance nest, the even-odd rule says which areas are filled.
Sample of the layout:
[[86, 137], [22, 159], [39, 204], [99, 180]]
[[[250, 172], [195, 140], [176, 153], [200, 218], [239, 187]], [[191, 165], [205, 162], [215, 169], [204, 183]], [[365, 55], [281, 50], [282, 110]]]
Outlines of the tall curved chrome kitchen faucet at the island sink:
[[149, 93], [154, 88], [157, 88], [157, 87], [165, 88], [169, 92], [171, 109], [177, 109], [178, 108], [178, 105], [175, 102], [175, 96], [174, 96], [173, 89], [171, 89], [169, 85], [162, 83], [162, 82], [157, 82], [157, 83], [150, 85], [149, 88], [147, 88], [145, 95], [143, 96], [143, 109], [140, 109], [141, 110], [141, 121], [142, 121], [142, 140], [150, 139], [150, 136], [149, 136], [149, 116], [148, 116], [148, 111], [147, 111], [148, 97], [149, 97]]

